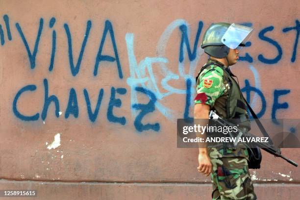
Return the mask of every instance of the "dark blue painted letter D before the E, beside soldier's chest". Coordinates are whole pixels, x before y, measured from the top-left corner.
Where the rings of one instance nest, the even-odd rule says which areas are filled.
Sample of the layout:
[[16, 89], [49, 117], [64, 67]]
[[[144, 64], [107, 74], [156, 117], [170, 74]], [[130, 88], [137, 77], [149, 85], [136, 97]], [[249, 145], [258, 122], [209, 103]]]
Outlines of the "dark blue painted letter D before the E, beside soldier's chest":
[[[266, 107], [267, 107], [267, 101], [263, 95], [263, 93], [255, 88], [255, 87], [252, 87], [249, 83], [249, 80], [248, 79], [245, 79], [245, 87], [241, 89], [242, 92], [246, 92], [246, 100], [248, 102], [250, 102], [250, 96], [251, 96], [251, 92], [255, 92], [261, 99], [261, 102], [262, 102], [262, 105], [261, 105], [261, 110], [259, 111], [259, 113], [257, 113], [257, 117], [260, 118], [262, 117], [265, 112], [266, 112]], [[250, 112], [249, 112], [250, 113]], [[253, 118], [252, 116], [250, 116], [251, 118]]]

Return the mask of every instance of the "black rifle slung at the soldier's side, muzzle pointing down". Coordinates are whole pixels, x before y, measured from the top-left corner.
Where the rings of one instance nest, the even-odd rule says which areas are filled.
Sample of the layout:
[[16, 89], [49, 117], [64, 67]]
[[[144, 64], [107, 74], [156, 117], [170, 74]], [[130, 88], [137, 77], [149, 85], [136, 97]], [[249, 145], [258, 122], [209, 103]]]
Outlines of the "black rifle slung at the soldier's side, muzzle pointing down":
[[[219, 117], [219, 115], [217, 115], [214, 111], [210, 111], [209, 119], [213, 120], [217, 125], [220, 125], [220, 126], [231, 126], [231, 127], [236, 126], [230, 122], [225, 121], [221, 117]], [[237, 128], [237, 132], [238, 133], [237, 133], [237, 137], [236, 137], [236, 141], [235, 141], [234, 145], [237, 144], [238, 138], [240, 138], [240, 137], [255, 137], [253, 134], [248, 133], [248, 132], [246, 133], [243, 130], [241, 130], [240, 128]], [[229, 133], [229, 136], [233, 137], [231, 133]], [[275, 147], [273, 144], [261, 143], [261, 142], [253, 142], [253, 143], [260, 149], [265, 150], [268, 153], [271, 153], [275, 157], [281, 157], [282, 159], [286, 160], [288, 163], [298, 167], [298, 164], [296, 162], [283, 156], [281, 154], [280, 148]]]

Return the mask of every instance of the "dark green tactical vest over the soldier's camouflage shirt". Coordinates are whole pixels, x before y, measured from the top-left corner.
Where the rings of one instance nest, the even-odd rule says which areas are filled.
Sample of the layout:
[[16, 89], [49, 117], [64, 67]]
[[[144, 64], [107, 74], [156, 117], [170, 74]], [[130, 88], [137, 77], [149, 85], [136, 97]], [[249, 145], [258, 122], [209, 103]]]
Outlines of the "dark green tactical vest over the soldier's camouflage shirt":
[[233, 75], [229, 68], [218, 61], [212, 60], [213, 62], [204, 65], [198, 76], [196, 77], [196, 87], [200, 82], [200, 73], [208, 66], [219, 66], [223, 70], [223, 79], [225, 84], [229, 84], [229, 89], [221, 97], [216, 99], [215, 104], [211, 110], [215, 110], [216, 113], [223, 119], [228, 119], [232, 123], [239, 125], [239, 127], [245, 127], [250, 130], [250, 120], [247, 112], [247, 104], [241, 92], [238, 83], [232, 76]]

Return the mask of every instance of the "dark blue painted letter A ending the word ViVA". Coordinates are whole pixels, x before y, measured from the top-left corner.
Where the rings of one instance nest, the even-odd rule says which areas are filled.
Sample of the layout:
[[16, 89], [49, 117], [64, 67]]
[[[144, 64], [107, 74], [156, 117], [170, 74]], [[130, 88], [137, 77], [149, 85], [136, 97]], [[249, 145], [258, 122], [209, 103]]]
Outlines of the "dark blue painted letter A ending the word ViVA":
[[[112, 57], [110, 55], [102, 55], [101, 54], [107, 32], [109, 32], [109, 34], [110, 34], [111, 42], [112, 42], [113, 49], [114, 49], [114, 52], [115, 52], [115, 57]], [[108, 61], [108, 62], [115, 62], [116, 61], [117, 62], [117, 67], [118, 67], [118, 72], [119, 72], [119, 77], [123, 78], [122, 68], [121, 68], [121, 64], [120, 64], [120, 60], [119, 60], [119, 54], [118, 54], [117, 45], [116, 45], [116, 40], [115, 40], [115, 36], [114, 36], [114, 30], [113, 30], [111, 22], [109, 22], [108, 20], [105, 21], [105, 27], [104, 27], [102, 39], [101, 39], [99, 51], [98, 51], [98, 54], [97, 54], [97, 57], [96, 57], [96, 63], [95, 63], [95, 68], [94, 68], [94, 75], [95, 76], [98, 74], [98, 67], [99, 67], [99, 63], [101, 61]]]

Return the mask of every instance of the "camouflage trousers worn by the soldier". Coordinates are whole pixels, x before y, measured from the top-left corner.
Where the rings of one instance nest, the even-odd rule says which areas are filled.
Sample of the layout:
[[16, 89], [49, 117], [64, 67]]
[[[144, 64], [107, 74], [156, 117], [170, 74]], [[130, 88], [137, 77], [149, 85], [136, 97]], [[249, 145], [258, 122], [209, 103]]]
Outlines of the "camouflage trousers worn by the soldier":
[[247, 159], [222, 157], [211, 159], [213, 200], [256, 200]]

